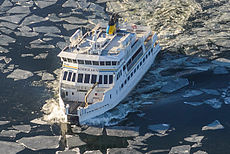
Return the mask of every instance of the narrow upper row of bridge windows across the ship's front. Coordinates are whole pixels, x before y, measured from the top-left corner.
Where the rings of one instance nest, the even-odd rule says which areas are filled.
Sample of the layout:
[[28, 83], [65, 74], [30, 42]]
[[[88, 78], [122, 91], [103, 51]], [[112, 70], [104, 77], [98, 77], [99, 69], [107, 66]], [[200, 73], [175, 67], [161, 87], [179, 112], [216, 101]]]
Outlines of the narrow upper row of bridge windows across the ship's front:
[[70, 59], [70, 58], [64, 58], [62, 57], [62, 60], [64, 62], [69, 63], [78, 63], [78, 64], [85, 64], [85, 65], [97, 65], [97, 66], [116, 66], [120, 63], [118, 61], [90, 61], [90, 60], [76, 60], [76, 59]]

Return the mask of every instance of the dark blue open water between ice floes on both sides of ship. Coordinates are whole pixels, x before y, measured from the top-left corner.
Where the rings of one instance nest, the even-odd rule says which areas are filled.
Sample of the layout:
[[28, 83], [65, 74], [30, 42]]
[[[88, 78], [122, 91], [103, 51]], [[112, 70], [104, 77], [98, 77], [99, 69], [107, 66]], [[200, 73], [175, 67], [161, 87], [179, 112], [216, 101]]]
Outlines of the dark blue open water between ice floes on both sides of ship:
[[[3, 5], [3, 2], [6, 1], [8, 0], [2, 1], [0, 4]], [[12, 3], [12, 6], [2, 7], [2, 10], [0, 9], [0, 17], [17, 15], [17, 13], [9, 14], [7, 13], [7, 10], [9, 10], [9, 8], [27, 4], [26, 1], [22, 1], [21, 4], [18, 4], [15, 1], [8, 2]], [[2, 26], [1, 23], [7, 22], [0, 18], [0, 34], [10, 36], [16, 40], [15, 42], [9, 43], [9, 45], [1, 44], [3, 41], [0, 40], [0, 46], [9, 51], [8, 53], [0, 53], [0, 56], [12, 58], [9, 64], [6, 64], [0, 69], [0, 121], [10, 121], [9, 124], [0, 125], [0, 131], [11, 130], [13, 129], [13, 125], [27, 124], [32, 127], [29, 134], [18, 133], [15, 138], [0, 137], [0, 141], [15, 142], [22, 137], [61, 135], [62, 127], [59, 127], [59, 124], [39, 125], [31, 123], [30, 121], [35, 118], [42, 117], [44, 113], [41, 109], [46, 100], [56, 97], [57, 89], [55, 89], [55, 87], [57, 84], [55, 84], [55, 81], [58, 80], [58, 76], [55, 71], [61, 67], [60, 60], [57, 58], [57, 54], [61, 49], [58, 47], [60, 44], [64, 44], [63, 42], [68, 41], [68, 37], [75, 31], [75, 29], [67, 30], [64, 27], [64, 24], [68, 24], [68, 22], [60, 19], [74, 16], [76, 19], [79, 19], [79, 23], [75, 24], [75, 26], [83, 26], [87, 29], [87, 27], [91, 27], [91, 24], [82, 24], [80, 19], [86, 20], [90, 18], [91, 20], [94, 18], [93, 15], [95, 12], [97, 12], [95, 10], [90, 10], [89, 7], [86, 9], [77, 8], [75, 10], [70, 7], [64, 8], [62, 7], [64, 2], [61, 0], [58, 0], [53, 5], [42, 9], [37, 7], [34, 2], [32, 2], [32, 5], [29, 7], [29, 13], [27, 13], [25, 17], [15, 25], [20, 27], [19, 25], [22, 25], [23, 21], [31, 15], [46, 18], [49, 14], [52, 14], [57, 17], [56, 21], [44, 20], [38, 23], [28, 24], [28, 27], [55, 26], [60, 30], [60, 32], [57, 34], [46, 34], [40, 32], [37, 36], [33, 37], [20, 36], [14, 33], [19, 32], [18, 29], [11, 30], [8, 26]], [[105, 4], [100, 3], [99, 6], [105, 7]], [[78, 14], [76, 12], [80, 13]], [[101, 12], [95, 16], [96, 19], [104, 18], [103, 15], [100, 16], [100, 13]], [[104, 16], [106, 16], [105, 14], [106, 13], [104, 12]], [[8, 31], [10, 31], [10, 33], [8, 33]], [[32, 32], [32, 30], [30, 30], [30, 32]], [[48, 38], [47, 41], [44, 38]], [[41, 44], [54, 45], [55, 48], [31, 47], [30, 42], [38, 39], [44, 41], [44, 43]], [[217, 48], [216, 50], [220, 51], [220, 48]], [[207, 153], [212, 154], [229, 153], [230, 120], [228, 117], [230, 106], [228, 104], [224, 104], [224, 99], [226, 97], [230, 97], [229, 67], [221, 67], [228, 71], [226, 74], [214, 74], [213, 70], [218, 66], [213, 65], [211, 61], [208, 60], [205, 62], [192, 63], [192, 60], [199, 57], [199, 55], [186, 56], [167, 52], [168, 48], [164, 48], [162, 53], [157, 56], [155, 65], [151, 67], [142, 81], [120, 105], [110, 112], [87, 122], [89, 125], [103, 125], [105, 127], [111, 125], [139, 127], [138, 137], [144, 138], [143, 136], [148, 133], [152, 135], [150, 135], [150, 137], [146, 137], [143, 141], [139, 141], [139, 143], [144, 143], [143, 145], [129, 145], [128, 141], [135, 140], [135, 137], [106, 136], [105, 134], [97, 136], [94, 134], [89, 135], [84, 132], [78, 132], [77, 134], [80, 139], [86, 143], [86, 145], [79, 146], [81, 153], [88, 150], [101, 150], [101, 152], [106, 153], [108, 148], [127, 148], [128, 146], [141, 153], [168, 153], [173, 146], [192, 146], [194, 143], [187, 142], [184, 138], [193, 134], [204, 136], [204, 138], [201, 141], [201, 146], [192, 148], [191, 153], [198, 150], [206, 151]], [[48, 56], [45, 59], [34, 59], [34, 57], [40, 53], [48, 53]], [[22, 57], [22, 54], [33, 55]], [[188, 57], [188, 59], [182, 60], [182, 62], [174, 62], [174, 60], [178, 60], [183, 57]], [[229, 57], [225, 56], [225, 58]], [[0, 63], [5, 64], [4, 60], [1, 60]], [[32, 72], [33, 76], [28, 79], [18, 81], [7, 78], [13, 70], [6, 73], [4, 73], [4, 70], [7, 70], [7, 67], [10, 64], [14, 64], [13, 70], [18, 68], [27, 70]], [[209, 69], [197, 70], [197, 68], [194, 68], [203, 66], [207, 66]], [[159, 69], [162, 69], [162, 71], [159, 71], [160, 73], [158, 73]], [[54, 76], [55, 80], [42, 81], [41, 76], [38, 75], [39, 73], [37, 73], [37, 71], [50, 73]], [[149, 86], [156, 83], [160, 83], [160, 86], [164, 86], [164, 83], [179, 77], [188, 79], [189, 84], [173, 93], [162, 93], [160, 92], [160, 88], [157, 90], [150, 89], [143, 91], [143, 88], [147, 89]], [[214, 95], [203, 93], [198, 96], [183, 97], [186, 90], [201, 89], [217, 90], [219, 94]], [[222, 96], [224, 91], [226, 95]], [[221, 108], [215, 109], [207, 104], [202, 104], [200, 106], [184, 104], [184, 102], [204, 102], [213, 98], [220, 100], [222, 103]], [[142, 105], [143, 102], [153, 102], [153, 104]], [[139, 114], [144, 115], [138, 116]], [[203, 126], [208, 125], [215, 120], [218, 120], [224, 126], [224, 129], [202, 131]], [[149, 130], [148, 126], [153, 124], [169, 124], [170, 128], [167, 131], [167, 135], [157, 136], [155, 132]], [[68, 134], [74, 135], [75, 133], [69, 130]], [[63, 136], [60, 141], [60, 146], [57, 149], [33, 151], [26, 148], [19, 153], [55, 153], [58, 150], [63, 151], [65, 147], [66, 140]], [[4, 147], [0, 147], [0, 149], [1, 148]]]

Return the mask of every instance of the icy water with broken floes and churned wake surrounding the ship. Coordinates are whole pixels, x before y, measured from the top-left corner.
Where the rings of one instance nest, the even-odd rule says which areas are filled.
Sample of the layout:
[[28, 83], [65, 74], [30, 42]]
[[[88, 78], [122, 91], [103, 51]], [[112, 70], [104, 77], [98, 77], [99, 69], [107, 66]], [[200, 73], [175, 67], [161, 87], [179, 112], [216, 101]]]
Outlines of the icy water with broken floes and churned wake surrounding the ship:
[[[121, 104], [67, 129], [57, 54], [77, 28], [133, 8], [121, 15], [151, 26], [163, 50]], [[0, 1], [0, 153], [229, 153], [229, 8], [227, 0]]]

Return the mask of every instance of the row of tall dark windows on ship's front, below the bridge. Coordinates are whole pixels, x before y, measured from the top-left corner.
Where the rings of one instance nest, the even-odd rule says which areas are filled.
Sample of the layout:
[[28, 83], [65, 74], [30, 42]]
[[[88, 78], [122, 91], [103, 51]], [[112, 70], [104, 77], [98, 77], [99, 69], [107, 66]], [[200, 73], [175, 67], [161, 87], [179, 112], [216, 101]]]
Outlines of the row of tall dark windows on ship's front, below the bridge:
[[[98, 79], [98, 80], [97, 80]], [[76, 81], [76, 73], [65, 71], [63, 75], [63, 80], [67, 81]], [[113, 75], [95, 75], [95, 74], [82, 74], [79, 73], [77, 76], [78, 83], [91, 83], [95, 84], [98, 81], [98, 84], [112, 84]]]

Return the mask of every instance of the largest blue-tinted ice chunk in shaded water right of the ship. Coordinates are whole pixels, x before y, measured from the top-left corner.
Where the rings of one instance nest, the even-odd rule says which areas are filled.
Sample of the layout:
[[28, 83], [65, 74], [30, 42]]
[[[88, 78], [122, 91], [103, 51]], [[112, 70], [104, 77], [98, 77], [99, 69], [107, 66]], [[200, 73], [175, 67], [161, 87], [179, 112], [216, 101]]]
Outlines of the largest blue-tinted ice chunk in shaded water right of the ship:
[[163, 86], [163, 88], [161, 88], [160, 92], [172, 93], [187, 85], [189, 85], [188, 79], [183, 79], [183, 78], [172, 79], [168, 81], [167, 84]]

